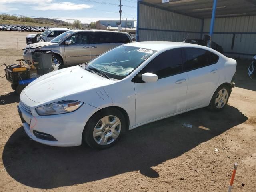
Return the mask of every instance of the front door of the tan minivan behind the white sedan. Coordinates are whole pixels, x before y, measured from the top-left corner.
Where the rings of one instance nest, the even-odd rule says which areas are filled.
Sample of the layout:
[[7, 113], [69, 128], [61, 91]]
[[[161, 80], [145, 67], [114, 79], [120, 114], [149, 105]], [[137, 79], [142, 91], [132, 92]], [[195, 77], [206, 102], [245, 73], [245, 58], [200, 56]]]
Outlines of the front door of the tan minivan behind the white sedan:
[[65, 45], [66, 62], [68, 65], [82, 64], [90, 61], [90, 44], [86, 32], [72, 35], [67, 40], [72, 44]]

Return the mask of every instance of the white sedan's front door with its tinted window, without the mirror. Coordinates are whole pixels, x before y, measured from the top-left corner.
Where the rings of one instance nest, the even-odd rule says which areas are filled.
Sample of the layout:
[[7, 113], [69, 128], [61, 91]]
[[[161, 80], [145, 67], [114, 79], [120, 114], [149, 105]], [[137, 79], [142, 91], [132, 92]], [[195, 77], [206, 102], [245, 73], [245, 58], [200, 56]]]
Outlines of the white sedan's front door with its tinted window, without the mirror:
[[[141, 75], [150, 72], [157, 82], [140, 82]], [[188, 75], [183, 72], [180, 48], [168, 50], [148, 63], [134, 78], [136, 124], [141, 124], [184, 110]]]

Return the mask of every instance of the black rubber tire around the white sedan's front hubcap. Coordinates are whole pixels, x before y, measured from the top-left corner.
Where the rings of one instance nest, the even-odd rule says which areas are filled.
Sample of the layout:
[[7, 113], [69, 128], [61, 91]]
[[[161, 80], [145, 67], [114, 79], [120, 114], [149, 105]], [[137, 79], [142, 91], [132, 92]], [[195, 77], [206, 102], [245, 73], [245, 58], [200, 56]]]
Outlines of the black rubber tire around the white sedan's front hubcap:
[[[105, 116], [116, 116], [121, 122], [121, 127], [120, 127], [121, 130], [120, 130], [119, 136], [114, 141], [111, 142], [111, 135], [110, 135], [110, 136], [108, 136], [108, 138], [110, 138], [110, 141], [109, 141], [110, 143], [106, 144], [106, 145], [101, 145], [96, 142], [96, 138], [94, 139], [93, 132], [94, 132], [94, 128], [96, 127], [98, 122]], [[119, 126], [116, 126], [116, 127], [119, 128]], [[112, 130], [113, 129], [115, 129], [115, 128], [112, 127]], [[90, 146], [92, 148], [106, 149], [106, 148], [109, 148], [109, 147], [113, 146], [114, 144], [116, 144], [116, 142], [118, 142], [118, 140], [125, 133], [125, 131], [126, 131], [126, 120], [125, 120], [122, 112], [120, 112], [120, 110], [118, 110], [116, 108], [106, 108], [106, 109], [103, 109], [103, 110], [97, 112], [88, 120], [88, 122], [86, 123], [86, 126], [84, 128], [84, 132], [82, 135], [82, 141], [86, 142], [88, 144], [88, 146]], [[104, 132], [104, 130], [103, 130], [103, 132]], [[108, 134], [108, 132], [105, 132], [104, 134], [106, 134], [106, 133]]]

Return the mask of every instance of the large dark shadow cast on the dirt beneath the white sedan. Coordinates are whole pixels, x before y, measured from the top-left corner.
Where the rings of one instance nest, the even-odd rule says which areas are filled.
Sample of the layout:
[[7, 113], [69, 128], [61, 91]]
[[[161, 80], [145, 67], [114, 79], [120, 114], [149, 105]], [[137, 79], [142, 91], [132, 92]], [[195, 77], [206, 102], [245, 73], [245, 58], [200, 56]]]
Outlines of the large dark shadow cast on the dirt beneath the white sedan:
[[[20, 127], [4, 146], [3, 163], [12, 178], [42, 189], [82, 184], [134, 170], [156, 178], [158, 173], [150, 167], [180, 156], [247, 119], [232, 106], [220, 113], [198, 109], [131, 130], [116, 146], [101, 151], [88, 146], [39, 144]], [[184, 127], [183, 123], [193, 127]]]

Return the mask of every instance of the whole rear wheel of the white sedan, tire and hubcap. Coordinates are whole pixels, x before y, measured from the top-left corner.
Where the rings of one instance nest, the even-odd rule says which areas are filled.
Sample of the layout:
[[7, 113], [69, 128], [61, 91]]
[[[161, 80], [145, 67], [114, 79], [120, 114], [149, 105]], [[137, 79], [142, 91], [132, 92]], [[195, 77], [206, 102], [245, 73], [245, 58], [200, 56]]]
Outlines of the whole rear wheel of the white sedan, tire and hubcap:
[[212, 111], [222, 110], [228, 103], [228, 98], [230, 96], [230, 89], [226, 85], [218, 87], [212, 96], [212, 100], [208, 108]]

